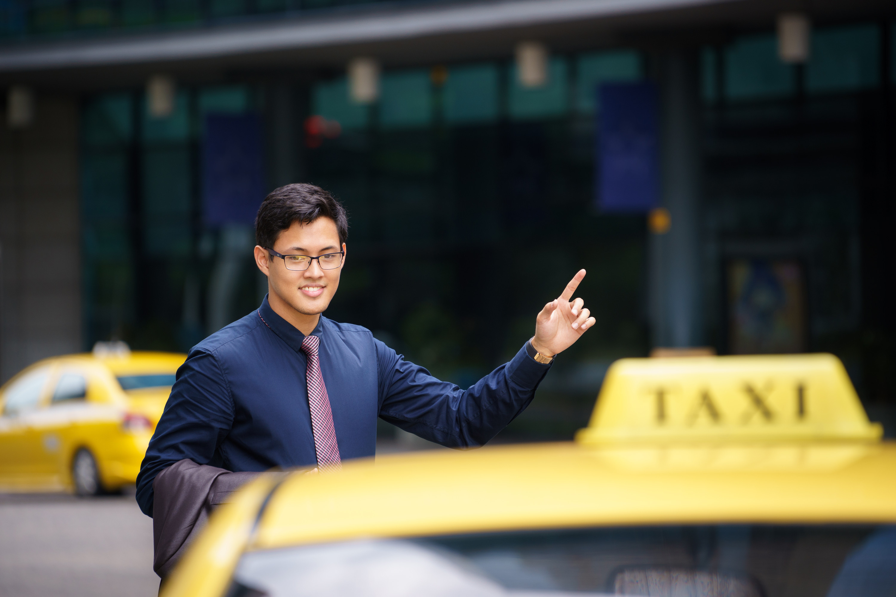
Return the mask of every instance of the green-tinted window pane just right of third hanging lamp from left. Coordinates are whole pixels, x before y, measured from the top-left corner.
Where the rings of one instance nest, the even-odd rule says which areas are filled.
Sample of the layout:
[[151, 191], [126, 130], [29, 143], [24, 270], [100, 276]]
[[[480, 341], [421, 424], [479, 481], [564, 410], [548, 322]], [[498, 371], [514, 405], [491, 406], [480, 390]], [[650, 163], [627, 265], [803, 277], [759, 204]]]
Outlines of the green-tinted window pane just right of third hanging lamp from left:
[[383, 75], [380, 124], [383, 128], [428, 126], [433, 118], [432, 84], [424, 70]]

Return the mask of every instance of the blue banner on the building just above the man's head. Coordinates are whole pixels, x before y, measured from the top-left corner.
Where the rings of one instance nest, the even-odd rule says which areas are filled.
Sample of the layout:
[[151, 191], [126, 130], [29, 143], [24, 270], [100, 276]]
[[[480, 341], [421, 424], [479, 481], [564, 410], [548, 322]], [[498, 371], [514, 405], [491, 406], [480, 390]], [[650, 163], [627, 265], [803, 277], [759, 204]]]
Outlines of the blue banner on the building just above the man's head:
[[202, 212], [208, 226], [252, 224], [264, 199], [258, 115], [208, 115], [202, 145]]

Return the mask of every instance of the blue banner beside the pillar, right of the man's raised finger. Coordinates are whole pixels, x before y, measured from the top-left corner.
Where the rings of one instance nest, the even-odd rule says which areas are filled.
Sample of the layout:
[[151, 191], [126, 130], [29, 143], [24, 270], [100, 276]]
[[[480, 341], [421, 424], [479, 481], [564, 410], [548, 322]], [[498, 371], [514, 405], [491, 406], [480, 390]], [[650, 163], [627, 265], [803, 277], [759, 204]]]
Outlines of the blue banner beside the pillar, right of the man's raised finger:
[[650, 82], [607, 83], [598, 93], [598, 207], [605, 212], [649, 211], [659, 195], [656, 87]]

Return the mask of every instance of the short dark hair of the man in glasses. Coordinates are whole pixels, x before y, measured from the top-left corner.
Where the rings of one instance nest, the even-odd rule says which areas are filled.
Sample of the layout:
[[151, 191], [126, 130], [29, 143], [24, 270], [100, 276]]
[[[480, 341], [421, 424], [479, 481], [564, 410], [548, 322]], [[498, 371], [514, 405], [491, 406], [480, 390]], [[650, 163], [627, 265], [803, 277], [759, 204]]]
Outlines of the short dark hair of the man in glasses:
[[262, 201], [255, 216], [255, 242], [272, 249], [280, 233], [293, 222], [310, 224], [318, 217], [329, 217], [336, 223], [339, 243], [349, 237], [349, 218], [345, 208], [329, 192], [319, 186], [293, 183], [274, 189]]

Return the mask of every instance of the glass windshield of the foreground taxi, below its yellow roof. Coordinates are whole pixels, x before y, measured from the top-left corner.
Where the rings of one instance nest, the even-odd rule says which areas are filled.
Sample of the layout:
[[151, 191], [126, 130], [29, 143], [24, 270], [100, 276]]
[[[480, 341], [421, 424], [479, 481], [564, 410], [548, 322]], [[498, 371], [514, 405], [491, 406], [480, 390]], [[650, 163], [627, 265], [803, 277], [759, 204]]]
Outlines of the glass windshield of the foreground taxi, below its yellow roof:
[[261, 597], [881, 597], [896, 525], [689, 525], [363, 540], [249, 552]]

